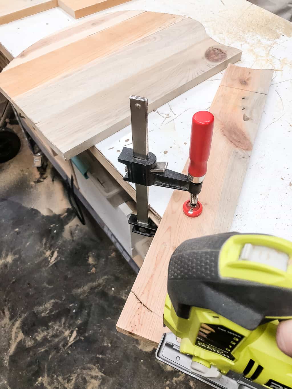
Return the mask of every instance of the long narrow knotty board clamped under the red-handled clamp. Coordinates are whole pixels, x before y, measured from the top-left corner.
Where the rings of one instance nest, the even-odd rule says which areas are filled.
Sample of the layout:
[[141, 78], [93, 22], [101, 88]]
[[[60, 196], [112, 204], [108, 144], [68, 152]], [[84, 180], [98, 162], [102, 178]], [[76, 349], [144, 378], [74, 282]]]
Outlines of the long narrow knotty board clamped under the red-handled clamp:
[[[215, 128], [208, 172], [199, 199], [200, 217], [183, 214], [188, 193], [174, 191], [150, 249], [117, 323], [118, 331], [158, 343], [167, 292], [167, 267], [173, 251], [186, 239], [229, 230], [273, 70], [228, 65], [210, 112]], [[241, 80], [245, 80], [245, 89]], [[225, 86], [227, 85], [228, 86]], [[188, 161], [184, 173], [187, 173]]]

